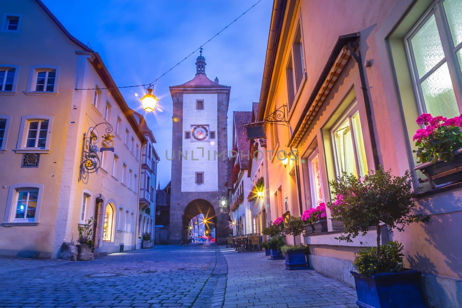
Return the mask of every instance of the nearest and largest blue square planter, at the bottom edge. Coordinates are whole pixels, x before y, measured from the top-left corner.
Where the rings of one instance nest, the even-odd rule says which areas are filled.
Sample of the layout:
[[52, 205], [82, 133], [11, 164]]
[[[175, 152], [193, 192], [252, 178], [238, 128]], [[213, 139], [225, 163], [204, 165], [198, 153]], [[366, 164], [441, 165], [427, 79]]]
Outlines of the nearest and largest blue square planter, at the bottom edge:
[[351, 271], [361, 308], [424, 308], [420, 290], [421, 272], [407, 270], [366, 277]]

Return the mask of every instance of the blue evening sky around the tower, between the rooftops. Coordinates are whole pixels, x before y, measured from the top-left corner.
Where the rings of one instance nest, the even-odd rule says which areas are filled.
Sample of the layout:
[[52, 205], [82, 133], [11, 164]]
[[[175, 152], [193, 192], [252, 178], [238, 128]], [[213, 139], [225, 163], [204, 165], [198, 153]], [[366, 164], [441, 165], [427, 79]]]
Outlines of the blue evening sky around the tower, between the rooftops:
[[[119, 86], [150, 83], [174, 66], [219, 30], [246, 11], [257, 0], [43, 0], [66, 29], [103, 58]], [[231, 148], [232, 111], [251, 110], [260, 97], [272, 0], [262, 0], [237, 22], [204, 46], [209, 79], [231, 86], [228, 113], [228, 147]], [[195, 75], [193, 54], [159, 79], [154, 94], [158, 108], [146, 114], [157, 139], [160, 156], [158, 181], [170, 181], [172, 100], [169, 86]], [[130, 108], [145, 114], [140, 96], [144, 89], [121, 89]], [[138, 97], [135, 97], [135, 93]]]

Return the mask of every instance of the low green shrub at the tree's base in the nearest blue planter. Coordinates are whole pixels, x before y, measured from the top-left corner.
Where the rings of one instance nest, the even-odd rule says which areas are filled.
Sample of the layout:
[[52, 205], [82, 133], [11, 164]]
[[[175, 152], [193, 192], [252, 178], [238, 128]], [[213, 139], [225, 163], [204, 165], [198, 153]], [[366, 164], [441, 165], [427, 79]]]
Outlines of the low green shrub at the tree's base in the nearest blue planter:
[[403, 270], [403, 246], [400, 242], [380, 245], [380, 256], [375, 247], [366, 247], [356, 253], [354, 268], [364, 276], [378, 273], [399, 272]]

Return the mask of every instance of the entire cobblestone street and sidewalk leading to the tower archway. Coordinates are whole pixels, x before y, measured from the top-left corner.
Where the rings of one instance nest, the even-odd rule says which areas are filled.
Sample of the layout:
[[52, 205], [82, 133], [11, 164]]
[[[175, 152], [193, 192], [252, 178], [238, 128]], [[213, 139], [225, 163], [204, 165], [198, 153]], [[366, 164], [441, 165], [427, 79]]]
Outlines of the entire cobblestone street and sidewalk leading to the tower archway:
[[355, 307], [353, 289], [267, 258], [213, 244], [86, 262], [0, 257], [0, 307]]

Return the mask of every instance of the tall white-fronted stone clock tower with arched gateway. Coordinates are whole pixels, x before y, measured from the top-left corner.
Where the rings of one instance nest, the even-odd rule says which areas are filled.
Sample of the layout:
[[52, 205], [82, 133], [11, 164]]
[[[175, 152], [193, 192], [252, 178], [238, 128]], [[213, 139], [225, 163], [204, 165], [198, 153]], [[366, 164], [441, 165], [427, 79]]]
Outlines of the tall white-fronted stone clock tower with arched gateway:
[[226, 197], [231, 87], [207, 78], [206, 62], [196, 59], [195, 77], [170, 87], [173, 129], [169, 243], [189, 241], [190, 220], [204, 214], [206, 228], [215, 229], [218, 244], [230, 233], [229, 214], [220, 207]]

